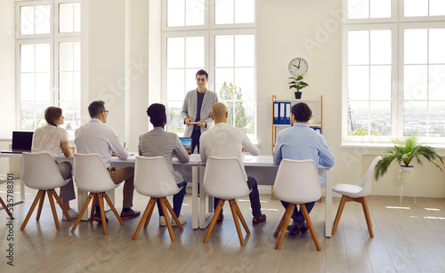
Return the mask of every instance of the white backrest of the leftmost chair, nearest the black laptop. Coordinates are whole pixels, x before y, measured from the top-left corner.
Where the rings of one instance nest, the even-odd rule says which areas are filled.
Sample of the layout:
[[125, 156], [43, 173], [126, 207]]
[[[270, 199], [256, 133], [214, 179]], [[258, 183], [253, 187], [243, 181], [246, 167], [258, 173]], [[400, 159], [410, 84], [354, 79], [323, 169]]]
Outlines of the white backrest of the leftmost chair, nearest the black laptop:
[[28, 188], [55, 189], [67, 182], [49, 153], [23, 153], [21, 155], [21, 180]]

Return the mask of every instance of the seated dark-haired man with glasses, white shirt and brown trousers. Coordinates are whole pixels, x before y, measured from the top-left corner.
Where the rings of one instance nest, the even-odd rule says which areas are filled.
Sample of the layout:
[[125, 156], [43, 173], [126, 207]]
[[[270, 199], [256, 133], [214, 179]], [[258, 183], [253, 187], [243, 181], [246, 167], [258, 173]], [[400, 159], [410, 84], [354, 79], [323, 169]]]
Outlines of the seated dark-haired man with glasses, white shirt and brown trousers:
[[[128, 151], [119, 141], [117, 133], [109, 126], [105, 125], [109, 111], [105, 109], [105, 102], [102, 100], [93, 101], [88, 107], [91, 116], [89, 123], [79, 127], [76, 130], [77, 152], [80, 154], [98, 154], [103, 164], [109, 170], [111, 180], [116, 184], [125, 181], [124, 184], [124, 202], [120, 217], [122, 220], [138, 217], [141, 213], [132, 210], [134, 194], [134, 167], [123, 169], [109, 168], [111, 162], [111, 153], [114, 151], [119, 159], [125, 160], [128, 157]], [[94, 221], [101, 221], [101, 212], [99, 206], [96, 206]], [[108, 221], [108, 219], [107, 219]]]

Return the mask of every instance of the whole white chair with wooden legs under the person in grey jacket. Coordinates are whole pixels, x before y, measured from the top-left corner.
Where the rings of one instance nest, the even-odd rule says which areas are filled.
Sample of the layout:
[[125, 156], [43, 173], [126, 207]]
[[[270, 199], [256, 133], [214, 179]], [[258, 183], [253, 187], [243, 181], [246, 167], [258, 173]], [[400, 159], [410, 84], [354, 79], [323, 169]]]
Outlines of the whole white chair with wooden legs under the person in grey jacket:
[[[134, 188], [140, 194], [150, 197], [150, 202], [142, 215], [142, 219], [134, 232], [133, 239], [135, 240], [139, 232], [143, 228], [147, 229], [149, 226], [151, 213], [155, 208], [156, 202], [159, 199], [162, 212], [166, 217], [166, 226], [170, 238], [174, 241], [174, 233], [172, 224], [168, 217], [168, 211], [172, 214], [174, 221], [182, 230], [182, 224], [179, 221], [177, 215], [174, 213], [172, 206], [168, 203], [166, 197], [174, 196], [182, 188], [178, 188], [176, 181], [174, 180], [174, 174], [170, 165], [168, 165], [165, 157], [136, 157], [136, 163], [134, 165]], [[145, 224], [144, 224], [145, 222]]]

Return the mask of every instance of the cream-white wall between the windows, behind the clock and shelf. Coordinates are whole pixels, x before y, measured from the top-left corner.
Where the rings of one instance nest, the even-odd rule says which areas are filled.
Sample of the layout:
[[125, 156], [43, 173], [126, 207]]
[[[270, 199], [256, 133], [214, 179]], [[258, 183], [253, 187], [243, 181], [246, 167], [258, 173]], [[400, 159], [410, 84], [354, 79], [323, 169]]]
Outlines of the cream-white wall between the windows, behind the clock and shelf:
[[[4, 2], [0, 1], [0, 7]], [[137, 149], [139, 135], [148, 130], [145, 110], [149, 103], [161, 100], [159, 3], [158, 0], [83, 2], [83, 16], [88, 21], [82, 25], [82, 52], [88, 58], [82, 63], [84, 99], [85, 92], [87, 96], [82, 109], [85, 111], [92, 100], [106, 100], [110, 110], [107, 124], [115, 128], [130, 150]], [[323, 134], [336, 156], [334, 183], [360, 181], [372, 157], [384, 154], [384, 149], [368, 149], [364, 145], [341, 147], [342, 29], [338, 13], [342, 0], [257, 0], [256, 3], [257, 129], [261, 154], [271, 155], [271, 95], [292, 98], [293, 93], [287, 88], [290, 76], [287, 64], [295, 57], [303, 57], [309, 62], [309, 72], [304, 78], [310, 84], [303, 90], [303, 97], [323, 95]], [[312, 44], [307, 46], [303, 42]], [[142, 72], [128, 72], [132, 61], [140, 58], [142, 61], [133, 68]], [[123, 84], [125, 76], [132, 75], [130, 85]], [[383, 179], [374, 183], [372, 193], [398, 195], [397, 175], [397, 166], [393, 165]], [[417, 196], [445, 197], [444, 181], [444, 174], [431, 165], [417, 168]]]

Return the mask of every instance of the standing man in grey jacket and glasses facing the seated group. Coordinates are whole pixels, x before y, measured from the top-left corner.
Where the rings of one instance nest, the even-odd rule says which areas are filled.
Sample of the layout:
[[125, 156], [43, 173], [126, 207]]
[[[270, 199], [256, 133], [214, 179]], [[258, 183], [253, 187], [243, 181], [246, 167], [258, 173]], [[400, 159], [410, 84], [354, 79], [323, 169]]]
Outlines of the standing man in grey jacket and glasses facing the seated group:
[[182, 104], [182, 120], [185, 124], [184, 137], [191, 137], [191, 153], [198, 146], [201, 133], [206, 132], [213, 124], [210, 118], [210, 110], [214, 103], [218, 102], [218, 95], [206, 89], [208, 74], [200, 69], [196, 74], [197, 89], [187, 92]]

